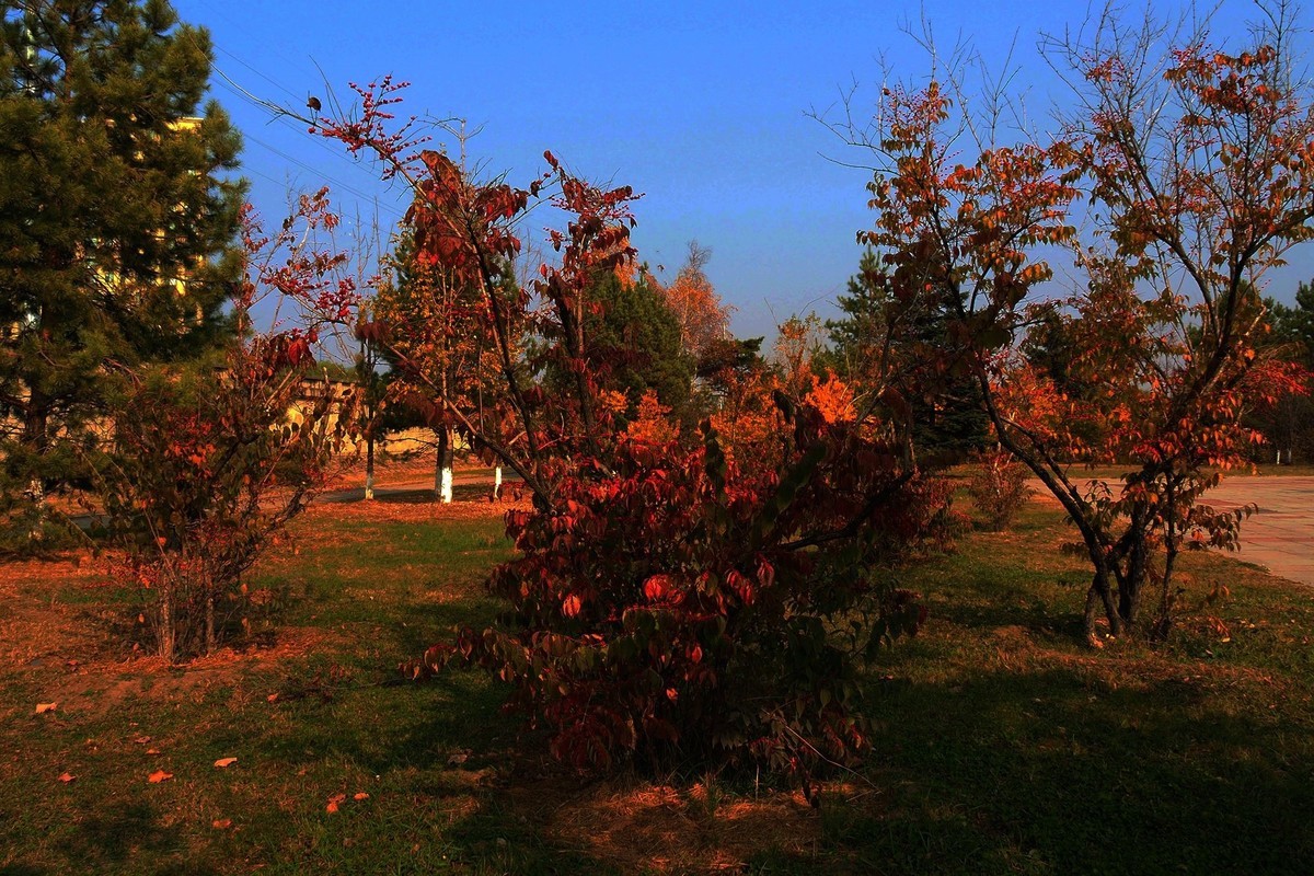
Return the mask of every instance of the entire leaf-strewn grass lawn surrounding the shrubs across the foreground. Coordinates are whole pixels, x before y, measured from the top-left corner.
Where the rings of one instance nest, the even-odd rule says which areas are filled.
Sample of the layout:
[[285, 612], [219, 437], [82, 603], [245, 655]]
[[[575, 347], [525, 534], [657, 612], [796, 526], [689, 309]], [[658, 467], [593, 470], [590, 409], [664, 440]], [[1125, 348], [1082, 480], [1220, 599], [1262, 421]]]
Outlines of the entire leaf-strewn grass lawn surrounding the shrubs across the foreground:
[[495, 613], [490, 506], [296, 529], [251, 582], [277, 636], [181, 668], [125, 645], [133, 594], [89, 566], [0, 570], [0, 873], [1314, 872], [1314, 591], [1242, 563], [1192, 556], [1173, 640], [1102, 651], [1050, 508], [901, 573], [930, 621], [871, 667], [871, 756], [813, 810], [752, 776], [583, 781], [482, 676], [399, 683]]

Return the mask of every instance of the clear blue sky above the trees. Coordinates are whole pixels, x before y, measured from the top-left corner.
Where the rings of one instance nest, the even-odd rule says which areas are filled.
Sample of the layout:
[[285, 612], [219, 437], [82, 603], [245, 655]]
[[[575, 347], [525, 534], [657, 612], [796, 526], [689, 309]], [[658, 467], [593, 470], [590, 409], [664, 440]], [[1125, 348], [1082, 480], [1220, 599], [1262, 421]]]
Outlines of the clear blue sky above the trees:
[[[331, 88], [347, 100], [348, 81], [393, 74], [413, 83], [407, 113], [480, 129], [469, 154], [489, 172], [527, 184], [551, 148], [582, 176], [643, 192], [640, 257], [669, 278], [689, 240], [710, 247], [708, 274], [737, 309], [741, 336], [770, 335], [794, 313], [833, 313], [861, 255], [854, 235], [871, 222], [869, 173], [834, 160], [862, 155], [809, 110], [827, 110], [854, 83], [855, 106], [870, 108], [884, 68], [899, 80], [924, 76], [926, 54], [901, 30], [925, 17], [940, 46], [970, 38], [996, 68], [1012, 49], [1016, 88], [1043, 121], [1063, 92], [1037, 35], [1088, 14], [1084, 0], [173, 5], [210, 30], [213, 93], [247, 138], [243, 173], [265, 217], [281, 218], [289, 189], [323, 184], [367, 225], [376, 211], [385, 226], [399, 215], [406, 193], [378, 183], [376, 168], [251, 100], [301, 109], [309, 95]], [[1239, 33], [1252, 8], [1225, 3], [1214, 34]], [[528, 236], [541, 238], [533, 218]], [[1305, 253], [1271, 292], [1290, 299], [1311, 264]]]

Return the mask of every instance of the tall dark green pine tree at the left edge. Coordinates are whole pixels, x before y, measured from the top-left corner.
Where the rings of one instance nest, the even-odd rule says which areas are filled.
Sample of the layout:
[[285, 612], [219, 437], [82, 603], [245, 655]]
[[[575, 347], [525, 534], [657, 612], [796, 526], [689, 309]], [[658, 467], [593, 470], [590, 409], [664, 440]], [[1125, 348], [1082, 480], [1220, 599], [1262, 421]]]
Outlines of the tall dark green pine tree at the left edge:
[[[0, 1], [0, 519], [78, 482], [116, 374], [213, 351], [239, 138], [164, 0]], [[29, 519], [22, 535], [32, 529]]]

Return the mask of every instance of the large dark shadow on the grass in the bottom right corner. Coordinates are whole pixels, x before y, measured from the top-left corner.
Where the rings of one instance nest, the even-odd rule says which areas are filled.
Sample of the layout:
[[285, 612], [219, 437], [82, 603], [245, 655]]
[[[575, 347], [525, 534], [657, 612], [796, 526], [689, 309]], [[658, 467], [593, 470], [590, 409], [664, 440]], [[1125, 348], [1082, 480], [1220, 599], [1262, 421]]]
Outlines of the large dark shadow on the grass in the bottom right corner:
[[1309, 729], [1177, 679], [1127, 682], [888, 686], [882, 809], [841, 810], [832, 838], [891, 872], [1314, 872]]

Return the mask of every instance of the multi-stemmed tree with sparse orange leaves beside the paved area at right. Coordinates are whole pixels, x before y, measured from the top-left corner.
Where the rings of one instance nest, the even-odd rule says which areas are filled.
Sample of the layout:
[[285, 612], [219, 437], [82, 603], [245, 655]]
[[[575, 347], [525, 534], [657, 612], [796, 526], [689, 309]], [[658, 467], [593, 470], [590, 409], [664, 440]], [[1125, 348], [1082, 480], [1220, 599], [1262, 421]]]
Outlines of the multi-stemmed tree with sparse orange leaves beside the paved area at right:
[[[1112, 634], [1144, 629], [1151, 592], [1163, 632], [1179, 552], [1235, 545], [1240, 515], [1200, 499], [1255, 439], [1240, 422], [1247, 402], [1289, 383], [1259, 355], [1259, 289], [1311, 234], [1314, 118], [1279, 49], [1289, 22], [1276, 20], [1279, 32], [1238, 51], [1205, 35], [1166, 50], [1162, 30], [1110, 16], [1085, 41], [1050, 42], [1077, 109], [1049, 144], [978, 139], [962, 163], [974, 131], [999, 127], [955, 106], [951, 76], [887, 89], [878, 133], [851, 137], [879, 159], [876, 223], [861, 236], [882, 253], [891, 294], [953, 293], [950, 336], [996, 436], [1077, 528], [1093, 566], [1092, 641], [1101, 613]], [[1039, 248], [1076, 240], [1079, 194], [1099, 217], [1070, 299], [1074, 364], [1104, 389], [1093, 402], [1058, 391], [1013, 347], [1053, 276]], [[1089, 420], [1097, 447], [1074, 435]], [[1134, 470], [1085, 489], [1068, 474], [1075, 460]]]

